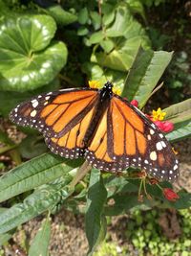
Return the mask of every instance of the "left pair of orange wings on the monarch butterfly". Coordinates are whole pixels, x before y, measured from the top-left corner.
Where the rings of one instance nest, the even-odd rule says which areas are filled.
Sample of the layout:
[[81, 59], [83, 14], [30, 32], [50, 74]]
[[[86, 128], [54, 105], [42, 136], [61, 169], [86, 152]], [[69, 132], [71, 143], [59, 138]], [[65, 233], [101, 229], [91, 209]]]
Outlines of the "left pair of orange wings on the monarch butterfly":
[[11, 111], [11, 121], [37, 128], [54, 153], [83, 155], [83, 138], [95, 113], [97, 90], [60, 90], [32, 98]]

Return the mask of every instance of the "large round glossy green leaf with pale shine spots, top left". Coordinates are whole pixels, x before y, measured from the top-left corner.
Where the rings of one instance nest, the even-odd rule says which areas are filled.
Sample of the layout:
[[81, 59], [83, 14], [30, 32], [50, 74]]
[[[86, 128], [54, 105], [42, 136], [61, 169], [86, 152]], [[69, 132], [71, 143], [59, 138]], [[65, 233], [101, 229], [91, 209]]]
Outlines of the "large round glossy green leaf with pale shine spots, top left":
[[1, 21], [1, 90], [32, 90], [53, 81], [67, 59], [65, 44], [51, 43], [55, 29], [53, 18], [47, 15]]

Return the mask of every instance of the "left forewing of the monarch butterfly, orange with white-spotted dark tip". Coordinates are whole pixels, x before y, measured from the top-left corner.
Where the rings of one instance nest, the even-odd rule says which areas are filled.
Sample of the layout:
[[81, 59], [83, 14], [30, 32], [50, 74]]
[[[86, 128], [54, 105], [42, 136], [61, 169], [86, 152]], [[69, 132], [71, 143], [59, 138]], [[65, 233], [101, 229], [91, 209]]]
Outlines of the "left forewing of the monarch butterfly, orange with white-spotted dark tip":
[[45, 136], [60, 137], [79, 122], [84, 109], [96, 104], [96, 96], [96, 90], [91, 89], [68, 89], [39, 95], [17, 105], [10, 118], [20, 126], [37, 128]]

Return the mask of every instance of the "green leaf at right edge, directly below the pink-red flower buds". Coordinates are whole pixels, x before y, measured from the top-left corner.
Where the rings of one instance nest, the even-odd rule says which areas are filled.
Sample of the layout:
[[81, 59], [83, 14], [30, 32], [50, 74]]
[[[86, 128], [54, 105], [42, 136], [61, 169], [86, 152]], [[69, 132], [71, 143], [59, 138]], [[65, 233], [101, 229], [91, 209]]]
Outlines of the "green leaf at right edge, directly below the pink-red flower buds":
[[173, 131], [165, 135], [167, 140], [175, 142], [185, 138], [191, 137], [191, 121], [185, 121], [178, 125], [175, 125]]

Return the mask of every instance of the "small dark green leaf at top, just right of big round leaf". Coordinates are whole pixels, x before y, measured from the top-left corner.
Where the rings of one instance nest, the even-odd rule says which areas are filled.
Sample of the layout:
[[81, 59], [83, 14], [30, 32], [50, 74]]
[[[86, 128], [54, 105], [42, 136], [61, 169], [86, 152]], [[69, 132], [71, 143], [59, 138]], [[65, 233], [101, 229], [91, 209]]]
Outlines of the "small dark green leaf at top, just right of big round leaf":
[[46, 9], [48, 13], [54, 18], [55, 22], [61, 26], [67, 26], [77, 20], [77, 16], [71, 12], [66, 12], [59, 5], [53, 5]]

